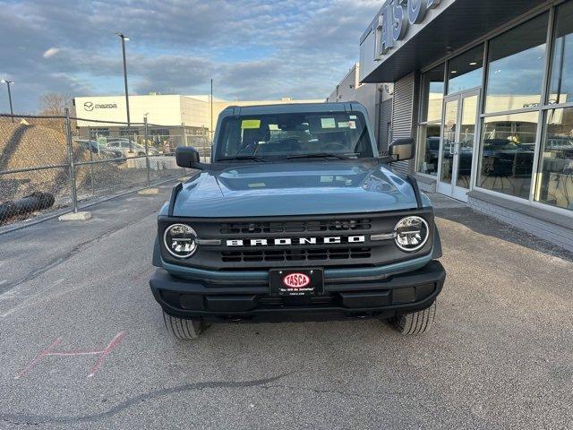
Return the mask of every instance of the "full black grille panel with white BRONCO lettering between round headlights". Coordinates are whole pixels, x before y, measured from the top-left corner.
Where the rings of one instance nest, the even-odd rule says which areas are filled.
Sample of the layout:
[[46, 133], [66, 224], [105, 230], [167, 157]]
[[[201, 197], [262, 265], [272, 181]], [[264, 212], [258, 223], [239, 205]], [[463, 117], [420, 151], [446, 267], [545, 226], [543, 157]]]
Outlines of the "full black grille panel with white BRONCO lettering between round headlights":
[[163, 245], [161, 257], [165, 262], [210, 271], [372, 267], [430, 253], [433, 231], [427, 245], [412, 254], [401, 251], [394, 240], [372, 240], [374, 235], [394, 231], [398, 221], [409, 215], [423, 216], [433, 229], [428, 209], [288, 217], [174, 217], [160, 219], [158, 236], [163, 243], [165, 229], [175, 222], [191, 226], [208, 243], [199, 245], [185, 260], [175, 259]]

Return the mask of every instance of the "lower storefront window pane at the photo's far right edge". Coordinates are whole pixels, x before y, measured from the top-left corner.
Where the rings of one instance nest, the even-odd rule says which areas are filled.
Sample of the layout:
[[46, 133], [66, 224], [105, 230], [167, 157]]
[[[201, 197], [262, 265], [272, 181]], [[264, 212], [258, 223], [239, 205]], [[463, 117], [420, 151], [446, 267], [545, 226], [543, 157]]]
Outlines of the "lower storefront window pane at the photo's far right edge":
[[546, 115], [535, 200], [573, 210], [573, 107]]

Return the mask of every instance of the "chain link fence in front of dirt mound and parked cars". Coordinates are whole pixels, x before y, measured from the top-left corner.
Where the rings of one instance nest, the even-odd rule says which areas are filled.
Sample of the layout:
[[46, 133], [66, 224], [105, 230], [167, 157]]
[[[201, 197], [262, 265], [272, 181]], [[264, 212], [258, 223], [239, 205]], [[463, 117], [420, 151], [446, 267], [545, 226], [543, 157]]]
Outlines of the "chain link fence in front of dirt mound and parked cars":
[[210, 158], [204, 127], [0, 114], [0, 227], [185, 176], [175, 148]]

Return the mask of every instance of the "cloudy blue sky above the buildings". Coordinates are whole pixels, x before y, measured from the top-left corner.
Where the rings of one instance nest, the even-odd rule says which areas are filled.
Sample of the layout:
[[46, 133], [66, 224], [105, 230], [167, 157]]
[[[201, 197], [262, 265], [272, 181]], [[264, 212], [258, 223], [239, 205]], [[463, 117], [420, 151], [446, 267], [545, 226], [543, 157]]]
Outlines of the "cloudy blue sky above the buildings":
[[[382, 0], [0, 0], [0, 79], [14, 112], [48, 92], [326, 99], [358, 60]], [[8, 112], [5, 85], [0, 112]]]

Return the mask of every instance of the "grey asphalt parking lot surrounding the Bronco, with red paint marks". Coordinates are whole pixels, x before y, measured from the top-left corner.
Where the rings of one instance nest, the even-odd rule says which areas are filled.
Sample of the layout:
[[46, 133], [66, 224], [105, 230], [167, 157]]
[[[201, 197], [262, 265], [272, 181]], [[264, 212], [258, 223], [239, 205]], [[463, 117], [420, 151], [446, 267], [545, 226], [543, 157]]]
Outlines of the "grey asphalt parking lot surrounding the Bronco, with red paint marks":
[[169, 189], [0, 236], [0, 428], [573, 426], [573, 255], [432, 196], [431, 333], [218, 324], [181, 342], [147, 283]]

